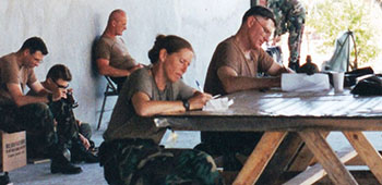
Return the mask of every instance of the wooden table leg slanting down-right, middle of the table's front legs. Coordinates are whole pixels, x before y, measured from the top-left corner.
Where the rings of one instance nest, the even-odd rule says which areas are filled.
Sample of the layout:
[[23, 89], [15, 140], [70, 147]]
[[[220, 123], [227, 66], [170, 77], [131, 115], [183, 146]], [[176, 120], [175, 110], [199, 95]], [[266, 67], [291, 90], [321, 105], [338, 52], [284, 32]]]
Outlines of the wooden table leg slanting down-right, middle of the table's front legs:
[[358, 184], [350, 172], [339, 161], [331, 146], [322, 137], [320, 132], [305, 131], [299, 132], [299, 135], [307, 144], [309, 149], [314, 153], [317, 160], [325, 169], [329, 177], [334, 184], [355, 185]]

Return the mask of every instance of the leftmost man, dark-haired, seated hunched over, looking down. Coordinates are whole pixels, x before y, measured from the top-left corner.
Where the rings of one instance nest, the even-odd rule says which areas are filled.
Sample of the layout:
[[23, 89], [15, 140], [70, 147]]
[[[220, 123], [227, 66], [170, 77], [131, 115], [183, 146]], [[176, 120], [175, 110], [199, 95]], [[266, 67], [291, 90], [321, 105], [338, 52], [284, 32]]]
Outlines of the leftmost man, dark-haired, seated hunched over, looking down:
[[[63, 98], [65, 91], [56, 86], [51, 91], [46, 90], [35, 76], [34, 67], [46, 54], [48, 50], [43, 39], [32, 37], [19, 51], [0, 58], [0, 130], [26, 131], [28, 156], [29, 149], [44, 147], [51, 158], [51, 173], [80, 173], [81, 168], [72, 165], [63, 156], [48, 107]], [[25, 86], [38, 96], [24, 95]]]

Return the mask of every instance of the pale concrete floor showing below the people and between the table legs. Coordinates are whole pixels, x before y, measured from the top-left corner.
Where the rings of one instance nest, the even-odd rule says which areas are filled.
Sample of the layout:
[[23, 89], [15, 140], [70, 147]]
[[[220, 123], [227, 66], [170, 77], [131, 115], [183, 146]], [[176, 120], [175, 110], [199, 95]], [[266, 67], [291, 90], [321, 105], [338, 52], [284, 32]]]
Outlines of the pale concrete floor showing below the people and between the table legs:
[[[103, 141], [102, 131], [94, 132], [93, 140], [96, 146]], [[162, 145], [166, 148], [192, 148], [200, 143], [199, 132], [176, 132], [177, 136], [172, 137], [171, 132], [167, 132]], [[382, 149], [381, 132], [365, 132], [369, 140], [378, 149]], [[175, 139], [174, 139], [175, 138]], [[350, 147], [342, 133], [333, 132], [327, 137], [332, 148], [336, 151], [345, 150]], [[98, 163], [79, 164], [83, 172], [76, 175], [51, 174], [50, 163], [27, 164], [26, 166], [10, 172], [11, 182], [14, 185], [103, 185], [107, 184], [104, 178], [104, 169]]]

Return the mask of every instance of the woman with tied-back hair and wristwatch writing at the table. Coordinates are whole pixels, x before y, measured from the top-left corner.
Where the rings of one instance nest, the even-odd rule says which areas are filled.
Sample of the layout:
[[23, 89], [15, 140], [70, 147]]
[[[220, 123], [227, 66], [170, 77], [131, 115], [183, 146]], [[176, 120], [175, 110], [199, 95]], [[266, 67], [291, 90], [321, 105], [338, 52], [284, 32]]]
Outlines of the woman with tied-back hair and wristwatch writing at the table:
[[180, 79], [193, 54], [187, 40], [159, 35], [148, 51], [152, 65], [138, 70], [124, 83], [99, 151], [109, 184], [219, 184], [206, 153], [159, 147], [166, 130], [157, 128], [148, 118], [201, 109], [212, 98]]

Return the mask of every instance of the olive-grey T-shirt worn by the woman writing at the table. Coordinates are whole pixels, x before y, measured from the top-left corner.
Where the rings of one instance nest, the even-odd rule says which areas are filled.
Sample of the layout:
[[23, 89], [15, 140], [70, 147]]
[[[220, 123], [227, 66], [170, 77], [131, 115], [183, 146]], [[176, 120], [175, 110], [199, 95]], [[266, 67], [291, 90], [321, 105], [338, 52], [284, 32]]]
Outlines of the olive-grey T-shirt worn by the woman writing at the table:
[[119, 94], [110, 123], [104, 133], [105, 140], [143, 138], [159, 144], [166, 128], [157, 128], [153, 118], [142, 118], [135, 113], [131, 98], [139, 91], [146, 94], [151, 100], [174, 101], [189, 99], [194, 89], [179, 79], [168, 83], [165, 90], [160, 91], [152, 76], [151, 66], [135, 71]]

